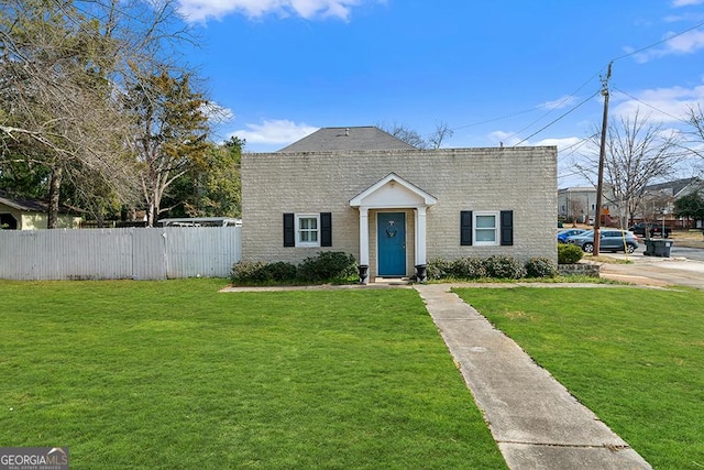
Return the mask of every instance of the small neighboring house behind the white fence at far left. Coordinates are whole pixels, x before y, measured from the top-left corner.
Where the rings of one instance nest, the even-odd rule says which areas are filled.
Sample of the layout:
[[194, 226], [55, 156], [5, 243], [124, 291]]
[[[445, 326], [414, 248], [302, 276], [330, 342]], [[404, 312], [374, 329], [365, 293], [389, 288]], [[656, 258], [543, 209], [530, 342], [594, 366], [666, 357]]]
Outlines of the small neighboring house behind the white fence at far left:
[[[47, 205], [40, 200], [13, 199], [0, 196], [0, 226], [7, 230], [45, 229]], [[59, 209], [57, 228], [80, 228], [80, 216], [72, 214], [67, 207]]]

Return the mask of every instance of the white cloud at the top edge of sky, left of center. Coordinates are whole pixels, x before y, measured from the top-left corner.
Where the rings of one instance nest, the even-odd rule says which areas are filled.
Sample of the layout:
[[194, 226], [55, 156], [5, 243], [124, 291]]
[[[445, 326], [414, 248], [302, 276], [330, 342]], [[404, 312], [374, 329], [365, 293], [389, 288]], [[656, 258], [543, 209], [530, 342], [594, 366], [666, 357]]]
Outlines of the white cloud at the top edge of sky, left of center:
[[248, 18], [265, 14], [349, 20], [352, 7], [367, 0], [178, 0], [179, 11], [190, 22], [221, 19], [230, 13]]

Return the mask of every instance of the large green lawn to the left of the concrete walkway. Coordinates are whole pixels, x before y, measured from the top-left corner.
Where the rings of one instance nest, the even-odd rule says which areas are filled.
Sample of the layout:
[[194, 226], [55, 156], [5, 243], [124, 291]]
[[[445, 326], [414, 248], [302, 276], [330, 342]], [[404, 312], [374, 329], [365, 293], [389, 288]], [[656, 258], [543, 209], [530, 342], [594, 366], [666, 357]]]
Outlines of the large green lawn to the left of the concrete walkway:
[[0, 445], [72, 469], [505, 468], [409, 289], [0, 284]]

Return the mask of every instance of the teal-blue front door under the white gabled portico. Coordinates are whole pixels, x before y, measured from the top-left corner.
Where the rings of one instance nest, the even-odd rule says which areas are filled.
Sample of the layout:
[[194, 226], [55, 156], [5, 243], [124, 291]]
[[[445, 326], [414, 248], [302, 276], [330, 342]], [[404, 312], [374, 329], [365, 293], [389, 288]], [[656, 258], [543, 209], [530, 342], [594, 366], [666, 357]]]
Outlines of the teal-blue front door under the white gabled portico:
[[376, 218], [378, 275], [406, 275], [406, 214], [378, 212]]

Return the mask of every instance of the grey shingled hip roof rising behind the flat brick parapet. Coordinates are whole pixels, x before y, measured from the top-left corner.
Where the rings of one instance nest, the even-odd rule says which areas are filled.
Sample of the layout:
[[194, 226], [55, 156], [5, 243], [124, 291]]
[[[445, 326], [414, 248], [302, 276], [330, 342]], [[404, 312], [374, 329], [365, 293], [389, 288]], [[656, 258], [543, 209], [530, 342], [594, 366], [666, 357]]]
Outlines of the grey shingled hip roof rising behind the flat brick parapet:
[[370, 125], [360, 128], [321, 128], [278, 152], [300, 153], [345, 150], [416, 150], [416, 147], [388, 132]]

